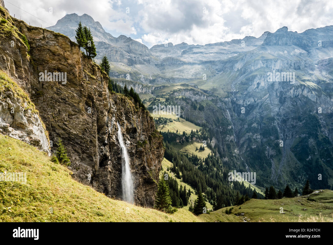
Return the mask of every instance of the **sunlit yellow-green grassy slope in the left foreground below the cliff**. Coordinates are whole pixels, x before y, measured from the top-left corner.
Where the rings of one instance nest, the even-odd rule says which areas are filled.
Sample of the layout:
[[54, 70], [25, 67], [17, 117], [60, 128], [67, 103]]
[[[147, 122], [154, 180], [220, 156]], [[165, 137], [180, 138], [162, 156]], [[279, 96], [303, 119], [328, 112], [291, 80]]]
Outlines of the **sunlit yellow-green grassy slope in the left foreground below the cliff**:
[[0, 182], [0, 222], [200, 221], [185, 209], [168, 215], [110, 199], [72, 179], [66, 167], [36, 148], [1, 134], [0, 171], [27, 172], [27, 184]]

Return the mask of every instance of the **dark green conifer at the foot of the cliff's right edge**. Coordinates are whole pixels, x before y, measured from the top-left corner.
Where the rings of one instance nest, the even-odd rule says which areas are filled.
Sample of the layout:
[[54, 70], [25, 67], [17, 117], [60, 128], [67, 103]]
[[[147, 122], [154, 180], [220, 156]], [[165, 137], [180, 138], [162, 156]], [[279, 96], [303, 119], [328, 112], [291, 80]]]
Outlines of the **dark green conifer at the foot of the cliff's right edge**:
[[163, 177], [160, 178], [156, 193], [156, 204], [155, 208], [166, 213], [173, 213], [174, 209], [171, 206], [172, 201], [169, 193], [169, 186]]

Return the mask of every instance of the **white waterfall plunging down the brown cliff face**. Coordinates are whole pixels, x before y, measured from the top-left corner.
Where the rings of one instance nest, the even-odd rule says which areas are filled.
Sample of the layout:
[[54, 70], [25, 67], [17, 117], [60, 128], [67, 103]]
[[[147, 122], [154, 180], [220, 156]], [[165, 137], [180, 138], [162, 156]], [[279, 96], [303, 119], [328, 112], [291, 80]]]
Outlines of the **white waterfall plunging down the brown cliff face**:
[[122, 152], [122, 187], [123, 187], [123, 200], [129, 203], [134, 203], [134, 193], [133, 193], [133, 178], [130, 168], [130, 157], [127, 153], [126, 146], [123, 140], [122, 130], [118, 125], [118, 140]]

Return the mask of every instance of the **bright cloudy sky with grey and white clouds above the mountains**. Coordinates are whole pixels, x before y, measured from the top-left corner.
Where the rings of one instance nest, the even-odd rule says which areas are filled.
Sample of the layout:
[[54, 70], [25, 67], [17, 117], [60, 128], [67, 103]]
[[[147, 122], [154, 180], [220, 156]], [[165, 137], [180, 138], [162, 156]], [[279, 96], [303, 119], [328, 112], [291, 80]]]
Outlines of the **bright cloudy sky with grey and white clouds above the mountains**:
[[333, 25], [332, 0], [4, 1], [11, 15], [34, 26], [53, 26], [66, 14], [86, 13], [113, 36], [130, 36], [149, 48], [166, 42], [203, 45], [259, 37], [283, 26], [303, 32]]

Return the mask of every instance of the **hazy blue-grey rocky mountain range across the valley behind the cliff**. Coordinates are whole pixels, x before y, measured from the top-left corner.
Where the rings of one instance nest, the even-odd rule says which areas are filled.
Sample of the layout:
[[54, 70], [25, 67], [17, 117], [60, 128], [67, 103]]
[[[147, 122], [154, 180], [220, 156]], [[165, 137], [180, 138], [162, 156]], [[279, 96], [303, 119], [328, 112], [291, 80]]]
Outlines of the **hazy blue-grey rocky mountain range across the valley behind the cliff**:
[[[302, 33], [282, 27], [258, 38], [150, 49], [123, 35], [113, 37], [86, 14], [66, 15], [48, 29], [75, 41], [79, 21], [92, 30], [96, 59], [107, 55], [111, 77], [126, 78], [120, 84], [138, 93], [181, 104], [183, 118], [209, 125], [214, 139], [208, 140], [225, 161], [261, 176], [258, 185], [282, 187], [289, 181], [301, 187], [309, 178], [315, 187], [331, 188], [333, 26]], [[290, 79], [294, 74], [295, 80], [272, 80], [270, 73]], [[193, 110], [191, 103], [205, 110]]]

